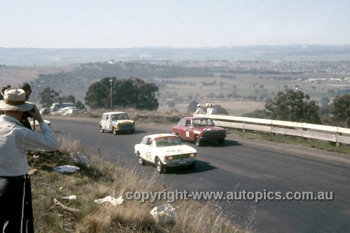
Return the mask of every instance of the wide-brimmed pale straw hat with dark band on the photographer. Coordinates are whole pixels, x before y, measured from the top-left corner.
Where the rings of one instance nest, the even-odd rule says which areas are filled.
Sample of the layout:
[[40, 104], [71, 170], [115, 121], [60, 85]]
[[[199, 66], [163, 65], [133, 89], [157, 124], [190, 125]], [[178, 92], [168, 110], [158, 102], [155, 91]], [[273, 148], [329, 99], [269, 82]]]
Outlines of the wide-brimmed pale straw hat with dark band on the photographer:
[[12, 88], [3, 92], [3, 100], [0, 101], [1, 111], [30, 111], [33, 104], [25, 101], [25, 91], [22, 89]]

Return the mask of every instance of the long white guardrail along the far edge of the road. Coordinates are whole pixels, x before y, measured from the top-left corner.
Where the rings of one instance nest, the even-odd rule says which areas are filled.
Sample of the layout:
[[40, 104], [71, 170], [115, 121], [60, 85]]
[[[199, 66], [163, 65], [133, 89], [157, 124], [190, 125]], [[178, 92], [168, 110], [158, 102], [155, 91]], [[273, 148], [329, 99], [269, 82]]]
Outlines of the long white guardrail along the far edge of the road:
[[328, 125], [315, 125], [301, 122], [289, 122], [283, 120], [269, 120], [260, 118], [244, 118], [230, 115], [204, 115], [194, 116], [207, 117], [221, 127], [230, 127], [243, 130], [255, 130], [272, 134], [286, 134], [301, 136], [305, 139], [318, 139], [337, 143], [350, 144], [350, 129]]

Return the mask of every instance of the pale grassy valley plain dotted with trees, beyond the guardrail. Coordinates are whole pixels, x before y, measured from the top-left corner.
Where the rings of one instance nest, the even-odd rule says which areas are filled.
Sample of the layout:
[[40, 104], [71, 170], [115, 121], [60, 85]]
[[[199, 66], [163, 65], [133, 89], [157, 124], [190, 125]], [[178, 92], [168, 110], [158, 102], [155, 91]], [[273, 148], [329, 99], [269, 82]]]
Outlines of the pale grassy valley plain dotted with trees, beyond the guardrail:
[[[289, 78], [284, 80], [283, 78]], [[167, 84], [166, 87], [160, 89], [160, 109], [162, 111], [169, 110], [167, 101], [176, 99], [177, 97], [193, 97], [200, 103], [207, 101], [228, 108], [228, 112], [232, 115], [241, 115], [249, 113], [257, 109], [263, 109], [265, 99], [274, 98], [278, 92], [282, 92], [286, 87], [301, 90], [304, 94], [309, 94], [310, 99], [320, 101], [322, 97], [329, 97], [332, 100], [341, 90], [350, 89], [350, 82], [339, 81], [322, 81], [321, 83], [305, 83], [302, 79], [307, 78], [335, 78], [346, 77], [345, 75], [333, 75], [330, 73], [298, 73], [286, 75], [248, 75], [237, 74], [235, 78], [227, 79], [218, 76], [214, 78], [176, 78], [172, 80], [181, 82], [191, 82], [195, 85], [176, 85]], [[161, 81], [162, 79], [156, 79]], [[214, 85], [203, 85], [203, 82], [213, 83]], [[223, 94], [224, 98], [217, 96]], [[241, 98], [228, 98], [228, 94], [237, 94]], [[214, 97], [213, 97], [214, 95]], [[257, 101], [244, 101], [245, 97], [253, 96]], [[186, 103], [188, 106], [188, 103]], [[183, 112], [186, 110], [186, 104], [176, 104], [176, 109]]]

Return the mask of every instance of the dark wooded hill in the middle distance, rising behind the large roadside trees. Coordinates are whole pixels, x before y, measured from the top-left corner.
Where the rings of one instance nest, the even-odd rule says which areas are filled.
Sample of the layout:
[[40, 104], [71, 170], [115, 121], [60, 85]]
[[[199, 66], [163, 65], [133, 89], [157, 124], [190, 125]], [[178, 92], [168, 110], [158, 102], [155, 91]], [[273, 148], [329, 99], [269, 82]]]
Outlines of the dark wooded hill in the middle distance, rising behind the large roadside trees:
[[[186, 67], [172, 64], [172, 62], [97, 62], [80, 64], [74, 71], [54, 74], [39, 74], [38, 78], [30, 82], [33, 93], [38, 93], [45, 87], [60, 90], [61, 96], [73, 94], [77, 99], [83, 100], [89, 85], [105, 77], [120, 79], [137, 77], [149, 82], [157, 83], [153, 78], [178, 77], [214, 77], [209, 67]], [[35, 94], [32, 97], [37, 99]]]

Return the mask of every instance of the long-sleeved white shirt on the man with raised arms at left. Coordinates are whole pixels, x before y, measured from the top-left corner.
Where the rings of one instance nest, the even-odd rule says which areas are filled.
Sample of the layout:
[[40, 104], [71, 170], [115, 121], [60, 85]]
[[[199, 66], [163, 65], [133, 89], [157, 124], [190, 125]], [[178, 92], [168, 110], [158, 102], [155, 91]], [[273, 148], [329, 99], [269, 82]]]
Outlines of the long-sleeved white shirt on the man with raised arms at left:
[[0, 176], [28, 174], [27, 150], [51, 151], [58, 148], [56, 135], [40, 123], [42, 134], [24, 127], [17, 119], [0, 116]]

